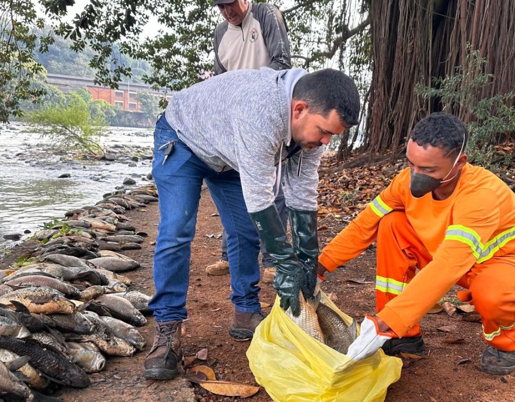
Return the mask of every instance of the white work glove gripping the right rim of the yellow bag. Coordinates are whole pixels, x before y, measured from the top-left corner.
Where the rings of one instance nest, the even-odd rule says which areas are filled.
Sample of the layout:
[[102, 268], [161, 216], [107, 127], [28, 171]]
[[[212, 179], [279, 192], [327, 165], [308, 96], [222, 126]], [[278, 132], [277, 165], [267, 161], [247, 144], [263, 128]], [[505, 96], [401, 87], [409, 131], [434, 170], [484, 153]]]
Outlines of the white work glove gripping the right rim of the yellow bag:
[[367, 314], [361, 323], [361, 333], [349, 346], [347, 356], [354, 360], [365, 359], [377, 352], [388, 339], [394, 337], [393, 333], [379, 332], [377, 321]]

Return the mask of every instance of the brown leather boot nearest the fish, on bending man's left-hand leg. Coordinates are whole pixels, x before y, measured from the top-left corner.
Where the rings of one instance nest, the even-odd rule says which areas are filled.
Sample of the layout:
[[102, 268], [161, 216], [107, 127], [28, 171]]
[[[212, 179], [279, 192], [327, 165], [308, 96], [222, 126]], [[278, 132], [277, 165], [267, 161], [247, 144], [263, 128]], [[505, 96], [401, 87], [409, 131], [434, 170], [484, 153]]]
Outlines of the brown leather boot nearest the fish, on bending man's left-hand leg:
[[181, 322], [156, 323], [154, 344], [145, 358], [143, 375], [149, 380], [169, 380], [179, 374], [182, 359]]

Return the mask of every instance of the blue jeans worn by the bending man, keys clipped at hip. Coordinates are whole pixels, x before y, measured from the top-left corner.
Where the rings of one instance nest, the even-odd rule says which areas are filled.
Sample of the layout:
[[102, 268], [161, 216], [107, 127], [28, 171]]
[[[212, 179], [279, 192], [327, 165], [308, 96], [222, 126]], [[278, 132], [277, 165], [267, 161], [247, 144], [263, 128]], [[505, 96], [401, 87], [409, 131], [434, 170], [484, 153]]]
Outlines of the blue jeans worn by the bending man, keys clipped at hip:
[[[170, 140], [175, 141], [175, 147], [163, 165], [166, 147], [159, 148]], [[187, 317], [191, 241], [195, 236], [202, 180], [229, 234], [230, 299], [238, 311], [261, 311], [260, 242], [247, 212], [239, 173], [233, 169], [216, 172], [203, 163], [180, 141], [162, 115], [154, 132], [152, 175], [161, 213], [153, 265], [156, 294], [149, 303], [156, 321], [180, 321]]]

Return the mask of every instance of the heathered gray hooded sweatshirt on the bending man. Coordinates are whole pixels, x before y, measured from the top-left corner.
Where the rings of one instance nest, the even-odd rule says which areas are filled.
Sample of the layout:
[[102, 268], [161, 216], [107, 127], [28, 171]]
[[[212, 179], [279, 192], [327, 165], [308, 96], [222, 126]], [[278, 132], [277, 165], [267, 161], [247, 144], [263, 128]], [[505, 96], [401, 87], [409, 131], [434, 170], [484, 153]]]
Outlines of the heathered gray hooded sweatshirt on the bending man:
[[[250, 213], [273, 204], [275, 166], [294, 145], [291, 94], [305, 74], [302, 68], [230, 71], [180, 91], [166, 108], [168, 124], [197, 158], [215, 171], [239, 172]], [[316, 211], [322, 152], [301, 151], [286, 160], [287, 206]]]

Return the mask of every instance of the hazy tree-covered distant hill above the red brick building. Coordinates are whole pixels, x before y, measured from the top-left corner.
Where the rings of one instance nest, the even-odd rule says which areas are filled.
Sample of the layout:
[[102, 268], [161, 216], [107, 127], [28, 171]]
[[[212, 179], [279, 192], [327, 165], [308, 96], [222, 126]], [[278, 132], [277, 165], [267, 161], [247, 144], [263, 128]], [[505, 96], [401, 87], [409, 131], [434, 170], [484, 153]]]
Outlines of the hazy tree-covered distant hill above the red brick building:
[[[48, 32], [48, 29], [45, 30]], [[42, 34], [44, 31], [36, 29], [37, 34]], [[94, 77], [95, 72], [89, 66], [90, 60], [93, 58], [94, 53], [91, 48], [86, 47], [84, 50], [77, 53], [70, 49], [72, 42], [55, 35], [55, 43], [49, 46], [47, 53], [36, 53], [36, 61], [41, 63], [49, 73], [64, 74], [64, 75], [77, 75], [82, 77]], [[39, 44], [37, 48], [39, 47]], [[131, 82], [143, 82], [141, 77], [143, 74], [151, 74], [152, 68], [146, 61], [129, 59], [127, 56], [116, 54], [118, 60], [132, 69]], [[126, 79], [124, 79], [125, 81]]]

